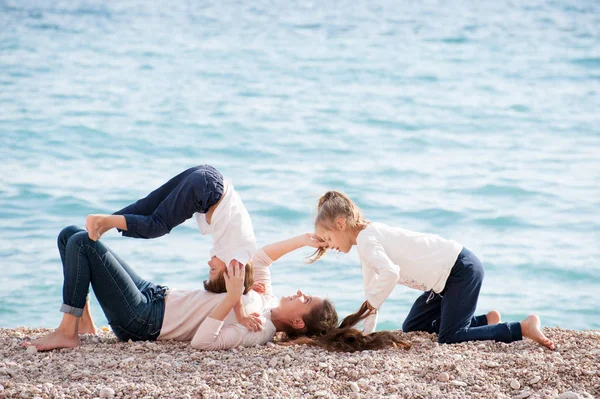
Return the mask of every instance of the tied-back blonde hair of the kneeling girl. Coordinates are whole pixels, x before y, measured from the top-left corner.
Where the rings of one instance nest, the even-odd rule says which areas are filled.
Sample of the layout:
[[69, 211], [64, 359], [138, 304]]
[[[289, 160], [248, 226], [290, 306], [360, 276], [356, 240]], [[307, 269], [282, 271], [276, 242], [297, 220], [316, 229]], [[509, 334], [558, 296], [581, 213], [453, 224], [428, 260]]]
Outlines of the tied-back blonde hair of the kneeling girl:
[[[327, 230], [332, 230], [338, 218], [344, 219], [350, 229], [362, 230], [369, 224], [358, 205], [350, 197], [339, 191], [327, 191], [319, 198], [315, 227], [323, 226]], [[327, 248], [318, 248], [308, 258], [308, 263], [318, 261], [325, 255], [325, 252], [327, 252]]]

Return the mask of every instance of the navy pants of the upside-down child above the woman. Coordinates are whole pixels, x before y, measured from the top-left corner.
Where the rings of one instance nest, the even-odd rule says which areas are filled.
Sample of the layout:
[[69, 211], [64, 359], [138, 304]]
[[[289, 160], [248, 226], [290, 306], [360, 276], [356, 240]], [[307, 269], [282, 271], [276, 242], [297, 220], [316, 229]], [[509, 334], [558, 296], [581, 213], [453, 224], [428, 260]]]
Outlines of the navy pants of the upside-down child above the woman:
[[210, 165], [187, 169], [147, 197], [114, 213], [125, 216], [124, 236], [156, 238], [168, 234], [194, 213], [206, 213], [223, 195], [223, 176]]

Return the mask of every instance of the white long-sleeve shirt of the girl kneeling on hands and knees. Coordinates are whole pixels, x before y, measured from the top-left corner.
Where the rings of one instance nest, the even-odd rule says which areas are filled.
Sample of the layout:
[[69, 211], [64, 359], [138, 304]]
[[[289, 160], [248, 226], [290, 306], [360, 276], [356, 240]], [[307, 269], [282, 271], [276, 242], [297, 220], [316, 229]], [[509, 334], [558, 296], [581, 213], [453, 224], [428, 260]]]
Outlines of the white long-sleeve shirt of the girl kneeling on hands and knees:
[[[421, 291], [444, 290], [463, 246], [434, 234], [369, 223], [356, 238], [367, 301], [376, 309], [396, 284]], [[374, 317], [365, 332], [375, 329]], [[367, 324], [369, 329], [367, 331]]]

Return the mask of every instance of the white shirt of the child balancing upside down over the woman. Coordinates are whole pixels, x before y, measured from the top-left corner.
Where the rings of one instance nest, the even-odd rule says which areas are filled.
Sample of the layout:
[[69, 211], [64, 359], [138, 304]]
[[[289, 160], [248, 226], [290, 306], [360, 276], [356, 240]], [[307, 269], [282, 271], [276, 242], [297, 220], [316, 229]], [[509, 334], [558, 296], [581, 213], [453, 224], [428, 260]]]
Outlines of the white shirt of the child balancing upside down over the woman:
[[231, 180], [225, 180], [223, 185], [223, 198], [213, 212], [211, 223], [208, 224], [203, 213], [194, 216], [200, 232], [213, 236], [211, 257], [218, 257], [226, 265], [232, 259], [246, 264], [256, 252], [252, 220]]

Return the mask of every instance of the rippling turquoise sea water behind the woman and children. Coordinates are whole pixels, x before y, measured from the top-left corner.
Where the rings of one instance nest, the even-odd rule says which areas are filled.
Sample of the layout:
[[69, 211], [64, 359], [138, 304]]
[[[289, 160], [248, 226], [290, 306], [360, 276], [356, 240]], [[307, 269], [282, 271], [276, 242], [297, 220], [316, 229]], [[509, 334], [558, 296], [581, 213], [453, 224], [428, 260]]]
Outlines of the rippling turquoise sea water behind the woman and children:
[[[260, 245], [340, 189], [474, 251], [480, 311], [600, 328], [598, 2], [148, 3], [0, 1], [0, 327], [59, 322], [62, 227], [210, 163]], [[157, 283], [207, 276], [193, 222], [105, 241]], [[273, 266], [276, 294], [358, 308], [356, 252], [309, 254]], [[418, 294], [398, 286], [379, 328]]]

